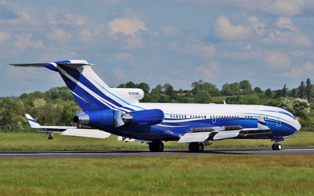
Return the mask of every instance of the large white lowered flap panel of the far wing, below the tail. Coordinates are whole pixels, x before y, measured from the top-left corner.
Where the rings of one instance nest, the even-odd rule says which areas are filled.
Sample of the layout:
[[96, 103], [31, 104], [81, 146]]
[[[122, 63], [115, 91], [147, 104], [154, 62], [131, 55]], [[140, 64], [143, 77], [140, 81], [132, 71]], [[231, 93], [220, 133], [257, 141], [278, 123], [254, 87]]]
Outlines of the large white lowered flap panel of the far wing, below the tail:
[[111, 134], [98, 129], [67, 129], [63, 131], [60, 135], [105, 139]]

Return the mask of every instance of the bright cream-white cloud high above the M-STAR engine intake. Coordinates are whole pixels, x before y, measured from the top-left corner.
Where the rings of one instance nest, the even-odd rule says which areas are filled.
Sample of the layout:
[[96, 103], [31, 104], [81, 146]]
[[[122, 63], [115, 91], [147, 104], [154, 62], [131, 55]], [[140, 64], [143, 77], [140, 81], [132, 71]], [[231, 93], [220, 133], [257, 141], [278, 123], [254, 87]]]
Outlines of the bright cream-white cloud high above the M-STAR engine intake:
[[110, 29], [110, 35], [120, 32], [125, 35], [135, 36], [136, 32], [139, 30], [149, 30], [144, 22], [133, 18], [116, 18], [108, 23], [108, 27]]

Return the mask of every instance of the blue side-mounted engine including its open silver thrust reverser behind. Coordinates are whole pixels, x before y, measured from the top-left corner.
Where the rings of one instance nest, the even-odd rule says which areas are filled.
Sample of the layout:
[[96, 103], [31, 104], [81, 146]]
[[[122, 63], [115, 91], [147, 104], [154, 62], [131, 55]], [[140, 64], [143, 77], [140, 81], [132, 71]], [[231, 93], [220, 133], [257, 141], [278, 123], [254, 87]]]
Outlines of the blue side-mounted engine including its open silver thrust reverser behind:
[[123, 113], [120, 110], [114, 111], [114, 126], [119, 127], [124, 124], [131, 126], [150, 126], [163, 121], [164, 113], [159, 109], [140, 110]]

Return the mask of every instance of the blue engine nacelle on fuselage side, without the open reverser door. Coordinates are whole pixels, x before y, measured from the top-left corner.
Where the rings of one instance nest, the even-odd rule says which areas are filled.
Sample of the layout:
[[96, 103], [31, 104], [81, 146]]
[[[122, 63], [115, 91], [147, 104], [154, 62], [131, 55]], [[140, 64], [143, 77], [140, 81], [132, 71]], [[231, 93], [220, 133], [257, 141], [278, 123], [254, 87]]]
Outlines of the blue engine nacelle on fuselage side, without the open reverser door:
[[163, 121], [165, 115], [162, 110], [140, 110], [128, 112], [122, 117], [125, 124], [132, 126], [150, 126], [159, 124]]

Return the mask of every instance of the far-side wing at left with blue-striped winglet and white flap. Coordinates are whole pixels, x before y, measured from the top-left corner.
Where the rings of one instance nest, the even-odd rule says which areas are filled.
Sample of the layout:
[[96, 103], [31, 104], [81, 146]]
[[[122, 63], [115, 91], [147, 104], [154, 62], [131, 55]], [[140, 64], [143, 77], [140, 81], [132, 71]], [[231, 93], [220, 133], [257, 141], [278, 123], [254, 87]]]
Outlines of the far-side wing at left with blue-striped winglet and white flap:
[[60, 133], [61, 135], [70, 135], [78, 137], [89, 137], [89, 138], [107, 138], [111, 134], [99, 129], [86, 129], [79, 128], [77, 126], [42, 126], [35, 121], [29, 114], [25, 114], [28, 123], [32, 128], [44, 128], [52, 129], [57, 131], [38, 131], [38, 133]]

